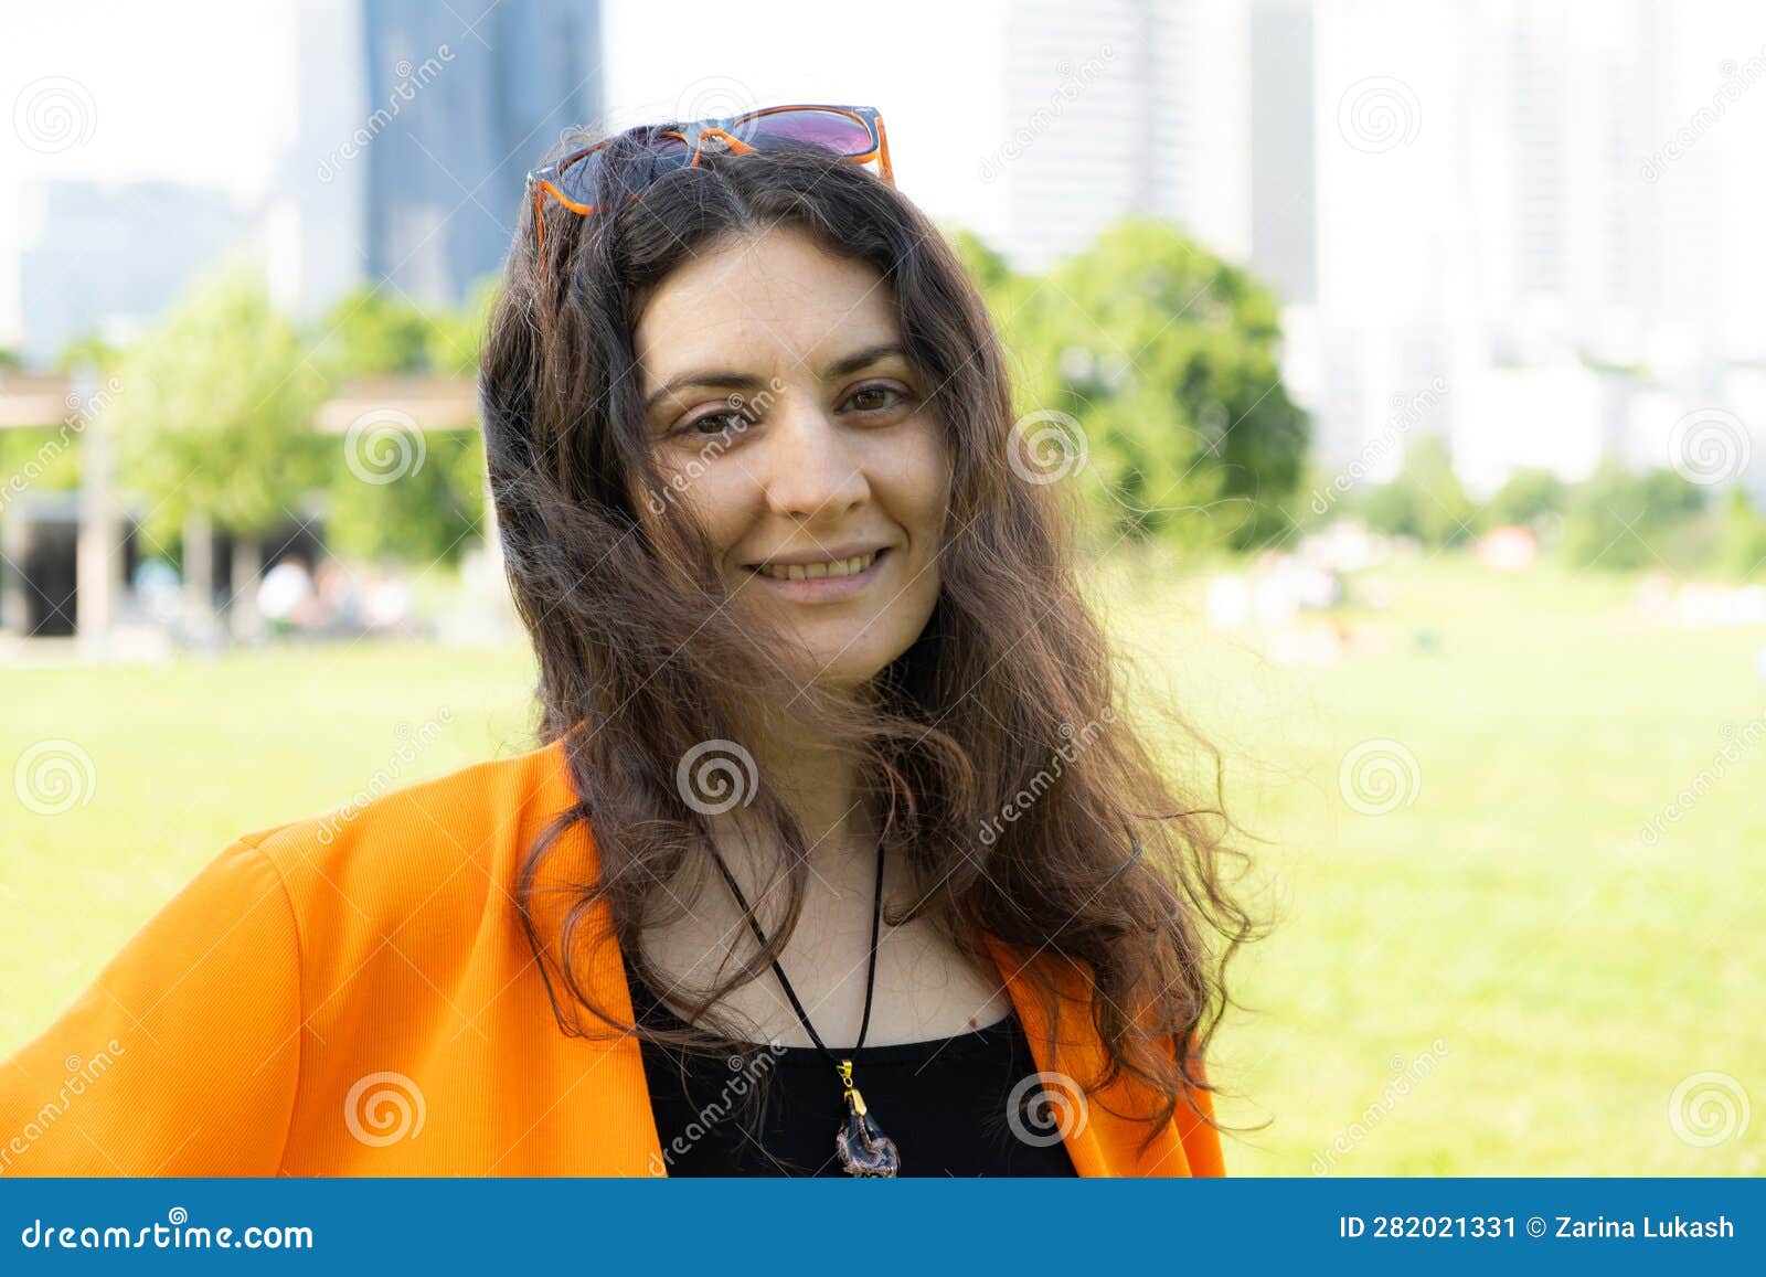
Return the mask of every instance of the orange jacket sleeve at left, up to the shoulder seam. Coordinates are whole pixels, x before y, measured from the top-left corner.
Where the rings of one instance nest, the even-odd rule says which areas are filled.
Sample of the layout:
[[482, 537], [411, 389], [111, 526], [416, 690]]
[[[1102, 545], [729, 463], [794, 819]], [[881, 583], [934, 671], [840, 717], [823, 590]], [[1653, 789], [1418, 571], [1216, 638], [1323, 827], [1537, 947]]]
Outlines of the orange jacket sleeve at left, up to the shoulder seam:
[[298, 1062], [293, 906], [238, 839], [0, 1063], [0, 1175], [275, 1175]]

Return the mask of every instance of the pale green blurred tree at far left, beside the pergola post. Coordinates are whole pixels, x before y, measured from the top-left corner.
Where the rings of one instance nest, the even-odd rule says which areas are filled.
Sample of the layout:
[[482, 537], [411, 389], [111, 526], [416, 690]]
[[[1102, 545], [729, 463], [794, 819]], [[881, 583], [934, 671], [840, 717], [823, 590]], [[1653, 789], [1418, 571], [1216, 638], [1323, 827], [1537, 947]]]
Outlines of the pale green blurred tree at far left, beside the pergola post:
[[200, 281], [118, 376], [118, 470], [147, 495], [155, 539], [171, 539], [192, 510], [260, 533], [320, 479], [309, 427], [325, 382], [256, 272]]

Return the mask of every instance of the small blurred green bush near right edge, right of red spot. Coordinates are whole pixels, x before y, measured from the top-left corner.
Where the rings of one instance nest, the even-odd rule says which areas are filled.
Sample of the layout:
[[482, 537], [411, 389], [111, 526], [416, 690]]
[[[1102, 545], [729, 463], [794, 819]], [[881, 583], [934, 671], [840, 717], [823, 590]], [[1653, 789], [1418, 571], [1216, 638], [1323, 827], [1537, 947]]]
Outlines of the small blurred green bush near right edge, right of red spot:
[[1690, 567], [1708, 548], [1694, 518], [1704, 489], [1672, 470], [1635, 475], [1602, 465], [1579, 484], [1565, 518], [1563, 553], [1575, 567], [1625, 572], [1639, 567]]

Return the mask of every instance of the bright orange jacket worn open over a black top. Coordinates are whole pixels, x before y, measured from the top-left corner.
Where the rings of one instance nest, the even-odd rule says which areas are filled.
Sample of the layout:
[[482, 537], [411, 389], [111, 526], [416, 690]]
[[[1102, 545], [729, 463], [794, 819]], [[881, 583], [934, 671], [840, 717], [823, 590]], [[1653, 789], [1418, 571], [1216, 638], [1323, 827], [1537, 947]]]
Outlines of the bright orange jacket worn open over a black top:
[[[560, 1031], [510, 903], [574, 798], [553, 742], [231, 843], [0, 1065], [0, 1175], [664, 1173], [638, 1040]], [[540, 881], [588, 881], [593, 855], [579, 823]], [[1017, 954], [987, 943], [1037, 1067], [1095, 1077], [1088, 1017], [1063, 1010], [1047, 1054]], [[629, 1017], [618, 948], [590, 952]], [[1118, 1079], [1068, 1123], [1081, 1175], [1226, 1173], [1187, 1106], [1141, 1155], [1136, 1099]]]

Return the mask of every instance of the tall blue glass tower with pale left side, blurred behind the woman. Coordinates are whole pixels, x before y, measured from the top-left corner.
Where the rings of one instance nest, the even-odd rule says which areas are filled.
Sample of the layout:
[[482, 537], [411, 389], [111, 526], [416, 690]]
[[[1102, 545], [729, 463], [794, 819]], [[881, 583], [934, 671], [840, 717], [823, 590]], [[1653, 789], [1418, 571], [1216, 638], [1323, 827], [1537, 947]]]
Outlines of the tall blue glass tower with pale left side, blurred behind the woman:
[[367, 281], [461, 300], [502, 267], [526, 171], [602, 111], [593, 0], [313, 0], [293, 57], [297, 143], [265, 237], [304, 316]]

